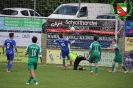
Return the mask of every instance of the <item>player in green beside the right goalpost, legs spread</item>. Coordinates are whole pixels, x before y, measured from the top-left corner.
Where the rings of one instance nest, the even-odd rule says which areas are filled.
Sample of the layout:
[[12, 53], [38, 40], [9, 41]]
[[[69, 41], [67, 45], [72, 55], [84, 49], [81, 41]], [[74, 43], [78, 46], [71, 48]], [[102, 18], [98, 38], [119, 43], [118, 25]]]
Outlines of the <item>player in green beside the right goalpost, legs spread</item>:
[[114, 52], [115, 52], [115, 58], [112, 63], [112, 70], [109, 72], [112, 72], [112, 73], [114, 72], [115, 63], [117, 62], [124, 69], [124, 73], [127, 73], [128, 71], [127, 71], [126, 67], [122, 64], [122, 55], [120, 53], [119, 46], [116, 42], [117, 42], [116, 39], [113, 39], [112, 46], [110, 46], [108, 48], [109, 50], [114, 50]]

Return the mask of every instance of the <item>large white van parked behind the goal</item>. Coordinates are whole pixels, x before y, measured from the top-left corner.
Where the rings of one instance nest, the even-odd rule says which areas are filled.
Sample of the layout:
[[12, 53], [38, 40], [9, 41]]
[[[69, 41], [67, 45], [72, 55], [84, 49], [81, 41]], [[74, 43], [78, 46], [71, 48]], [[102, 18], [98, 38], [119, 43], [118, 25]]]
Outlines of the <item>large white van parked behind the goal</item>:
[[[110, 13], [109, 4], [101, 3], [81, 3], [80, 4], [80, 18], [96, 19], [98, 15]], [[78, 18], [79, 17], [79, 3], [61, 4], [49, 16], [50, 18]]]

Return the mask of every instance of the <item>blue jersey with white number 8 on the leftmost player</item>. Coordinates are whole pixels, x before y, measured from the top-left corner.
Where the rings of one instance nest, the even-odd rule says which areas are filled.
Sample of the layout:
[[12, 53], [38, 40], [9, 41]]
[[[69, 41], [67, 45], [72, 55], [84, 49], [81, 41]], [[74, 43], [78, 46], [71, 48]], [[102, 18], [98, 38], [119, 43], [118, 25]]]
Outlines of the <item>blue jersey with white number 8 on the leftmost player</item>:
[[15, 40], [13, 39], [5, 40], [4, 46], [6, 47], [6, 54], [14, 54], [13, 48], [16, 46]]

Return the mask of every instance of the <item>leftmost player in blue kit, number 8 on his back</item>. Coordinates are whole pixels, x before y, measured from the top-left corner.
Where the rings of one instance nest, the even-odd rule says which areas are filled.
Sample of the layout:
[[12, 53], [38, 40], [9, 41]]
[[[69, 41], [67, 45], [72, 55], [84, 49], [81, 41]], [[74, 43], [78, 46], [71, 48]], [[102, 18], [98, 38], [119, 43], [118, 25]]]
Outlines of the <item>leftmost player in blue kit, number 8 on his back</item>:
[[14, 59], [13, 48], [15, 48], [16, 52], [18, 53], [17, 47], [16, 47], [16, 42], [15, 42], [15, 40], [13, 40], [13, 38], [14, 38], [14, 33], [9, 33], [9, 39], [6, 39], [2, 46], [3, 54], [5, 53], [4, 47], [6, 47], [6, 56], [7, 56], [6, 72], [10, 72], [11, 67], [12, 67], [12, 63], [13, 63], [13, 59]]

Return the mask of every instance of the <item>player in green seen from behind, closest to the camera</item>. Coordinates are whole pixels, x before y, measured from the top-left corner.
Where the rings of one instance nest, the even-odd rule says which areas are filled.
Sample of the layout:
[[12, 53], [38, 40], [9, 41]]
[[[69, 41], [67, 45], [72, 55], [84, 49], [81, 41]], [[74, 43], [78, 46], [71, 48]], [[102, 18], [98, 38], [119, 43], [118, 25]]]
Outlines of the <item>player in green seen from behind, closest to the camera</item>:
[[40, 57], [41, 63], [43, 62], [42, 60], [42, 53], [41, 53], [41, 48], [36, 44], [37, 42], [37, 37], [32, 38], [33, 44], [30, 44], [26, 48], [26, 53], [25, 55], [28, 54], [28, 69], [30, 71], [30, 76], [26, 84], [30, 84], [30, 81], [33, 79], [35, 85], [38, 85], [38, 82], [35, 77], [34, 70], [37, 69], [37, 63], [38, 63], [38, 55]]

